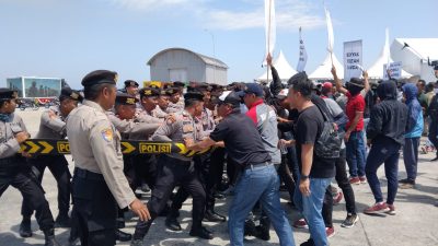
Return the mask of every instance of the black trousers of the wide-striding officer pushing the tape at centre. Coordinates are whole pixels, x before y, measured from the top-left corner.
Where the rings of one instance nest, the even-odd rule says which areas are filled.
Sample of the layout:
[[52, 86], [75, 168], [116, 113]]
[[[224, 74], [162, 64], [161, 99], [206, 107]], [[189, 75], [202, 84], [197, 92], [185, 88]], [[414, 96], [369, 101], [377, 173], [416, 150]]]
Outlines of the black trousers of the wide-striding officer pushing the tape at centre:
[[[191, 164], [191, 162], [181, 161], [168, 155], [161, 155], [159, 162], [162, 167], [158, 173], [155, 187], [152, 189], [152, 197], [147, 204], [151, 221], [163, 210], [175, 186], [181, 184], [193, 197], [192, 227], [200, 227], [205, 213], [206, 195], [194, 165]], [[151, 221], [149, 221], [149, 223], [151, 223]], [[147, 231], [142, 232], [146, 223], [148, 222], [139, 221], [137, 223], [136, 235], [146, 235]], [[147, 230], [149, 230], [149, 227]]]

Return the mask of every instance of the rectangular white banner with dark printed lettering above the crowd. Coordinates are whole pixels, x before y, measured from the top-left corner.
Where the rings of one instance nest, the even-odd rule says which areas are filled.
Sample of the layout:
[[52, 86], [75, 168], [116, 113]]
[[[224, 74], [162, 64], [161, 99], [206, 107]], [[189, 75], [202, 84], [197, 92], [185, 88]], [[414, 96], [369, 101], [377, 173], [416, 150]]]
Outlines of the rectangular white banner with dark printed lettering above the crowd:
[[344, 81], [362, 74], [362, 40], [344, 42]]

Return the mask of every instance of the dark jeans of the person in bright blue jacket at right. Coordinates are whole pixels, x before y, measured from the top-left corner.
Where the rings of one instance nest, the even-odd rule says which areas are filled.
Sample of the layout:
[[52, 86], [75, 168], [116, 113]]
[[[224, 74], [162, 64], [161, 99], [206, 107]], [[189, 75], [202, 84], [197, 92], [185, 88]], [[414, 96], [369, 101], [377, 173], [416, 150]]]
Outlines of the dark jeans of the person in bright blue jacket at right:
[[417, 178], [419, 137], [404, 139], [403, 161], [406, 167], [407, 179], [415, 181]]

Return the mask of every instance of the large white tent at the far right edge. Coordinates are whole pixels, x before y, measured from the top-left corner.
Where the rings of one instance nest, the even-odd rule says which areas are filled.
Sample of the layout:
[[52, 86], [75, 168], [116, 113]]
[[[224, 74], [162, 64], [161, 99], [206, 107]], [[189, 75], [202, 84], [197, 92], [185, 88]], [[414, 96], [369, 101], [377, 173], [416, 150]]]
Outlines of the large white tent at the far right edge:
[[438, 38], [395, 38], [391, 45], [391, 57], [402, 61], [403, 69], [419, 75], [426, 82], [436, 81], [434, 69], [427, 58], [438, 60]]

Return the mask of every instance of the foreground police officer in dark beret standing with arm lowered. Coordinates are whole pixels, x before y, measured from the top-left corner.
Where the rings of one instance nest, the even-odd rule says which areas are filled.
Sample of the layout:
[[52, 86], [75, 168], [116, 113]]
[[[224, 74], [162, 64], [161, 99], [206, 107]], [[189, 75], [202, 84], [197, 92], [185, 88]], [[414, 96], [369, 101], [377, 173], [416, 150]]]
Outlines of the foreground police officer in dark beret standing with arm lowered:
[[79, 223], [81, 245], [115, 245], [117, 207], [129, 207], [140, 220], [149, 211], [138, 200], [123, 173], [120, 136], [105, 110], [116, 98], [117, 73], [96, 70], [82, 80], [83, 105], [67, 119], [67, 136], [76, 163], [73, 213]]

